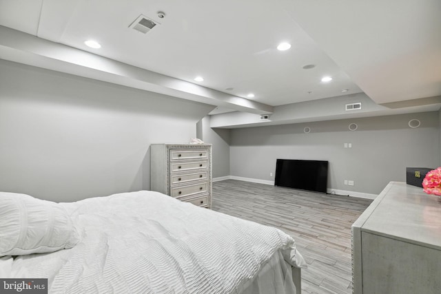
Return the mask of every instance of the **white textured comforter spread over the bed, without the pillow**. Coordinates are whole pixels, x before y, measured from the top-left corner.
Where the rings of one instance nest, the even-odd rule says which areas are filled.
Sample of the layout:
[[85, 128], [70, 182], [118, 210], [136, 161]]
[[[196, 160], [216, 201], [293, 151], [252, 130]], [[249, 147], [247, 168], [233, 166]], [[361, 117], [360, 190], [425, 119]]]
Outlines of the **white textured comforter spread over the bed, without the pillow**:
[[1, 258], [3, 277], [48, 278], [50, 293], [240, 293], [276, 251], [293, 266], [305, 265], [282, 231], [161, 193], [63, 206], [81, 242], [54, 253]]

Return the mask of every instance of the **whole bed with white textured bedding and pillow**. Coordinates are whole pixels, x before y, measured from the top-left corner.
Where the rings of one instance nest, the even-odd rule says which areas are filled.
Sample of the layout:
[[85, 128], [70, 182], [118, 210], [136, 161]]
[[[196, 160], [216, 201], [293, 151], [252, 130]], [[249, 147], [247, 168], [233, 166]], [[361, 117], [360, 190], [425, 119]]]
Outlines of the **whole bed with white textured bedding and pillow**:
[[158, 192], [0, 192], [0, 277], [47, 278], [49, 293], [300, 293], [305, 266], [282, 231]]

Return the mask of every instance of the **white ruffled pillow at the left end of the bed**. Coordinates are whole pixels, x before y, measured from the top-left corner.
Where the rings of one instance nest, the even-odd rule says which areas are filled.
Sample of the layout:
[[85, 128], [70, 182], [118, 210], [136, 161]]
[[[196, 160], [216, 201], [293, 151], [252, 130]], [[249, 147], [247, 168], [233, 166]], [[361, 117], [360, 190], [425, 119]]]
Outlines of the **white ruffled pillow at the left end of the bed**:
[[72, 248], [79, 240], [61, 205], [0, 192], [0, 256], [54, 252]]

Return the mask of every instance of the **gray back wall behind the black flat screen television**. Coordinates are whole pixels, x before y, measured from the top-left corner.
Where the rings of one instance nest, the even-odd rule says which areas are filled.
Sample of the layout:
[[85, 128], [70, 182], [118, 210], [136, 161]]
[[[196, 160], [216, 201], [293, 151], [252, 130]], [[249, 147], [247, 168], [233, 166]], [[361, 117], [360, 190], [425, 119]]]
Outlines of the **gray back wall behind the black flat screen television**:
[[[391, 180], [405, 182], [406, 167], [440, 165], [438, 116], [426, 112], [232, 129], [230, 174], [274, 180], [269, 173], [275, 172], [276, 158], [329, 160], [328, 188], [378, 194]], [[412, 118], [421, 126], [411, 129]], [[349, 131], [350, 123], [358, 124], [355, 132]], [[305, 127], [311, 128], [309, 134]]]

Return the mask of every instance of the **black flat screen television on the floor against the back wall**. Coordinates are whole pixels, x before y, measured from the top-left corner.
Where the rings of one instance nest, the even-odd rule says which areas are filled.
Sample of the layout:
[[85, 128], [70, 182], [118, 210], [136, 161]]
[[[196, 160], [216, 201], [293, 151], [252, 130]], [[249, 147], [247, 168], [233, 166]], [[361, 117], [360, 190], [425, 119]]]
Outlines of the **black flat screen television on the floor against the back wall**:
[[328, 162], [278, 159], [274, 185], [327, 193]]

